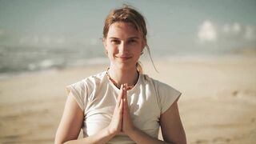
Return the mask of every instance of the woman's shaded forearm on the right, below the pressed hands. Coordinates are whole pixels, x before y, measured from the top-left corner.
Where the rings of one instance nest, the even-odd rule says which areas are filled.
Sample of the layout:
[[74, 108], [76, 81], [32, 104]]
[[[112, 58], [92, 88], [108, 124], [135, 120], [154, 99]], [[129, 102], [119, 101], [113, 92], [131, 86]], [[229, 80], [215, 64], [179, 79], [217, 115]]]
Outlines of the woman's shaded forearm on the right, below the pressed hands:
[[138, 128], [135, 128], [133, 132], [128, 134], [128, 136], [134, 140], [136, 143], [147, 143], [147, 144], [162, 144], [162, 143], [168, 143], [163, 142], [161, 140], [158, 140], [157, 138], [152, 138], [150, 135], [144, 133], [142, 130], [139, 130]]

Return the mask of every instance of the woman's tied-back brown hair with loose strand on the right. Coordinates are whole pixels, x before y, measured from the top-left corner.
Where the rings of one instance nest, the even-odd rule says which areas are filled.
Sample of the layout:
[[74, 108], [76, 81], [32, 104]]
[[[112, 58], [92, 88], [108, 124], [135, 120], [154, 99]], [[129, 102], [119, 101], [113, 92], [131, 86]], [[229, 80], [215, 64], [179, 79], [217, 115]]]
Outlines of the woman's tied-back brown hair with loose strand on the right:
[[[122, 8], [112, 10], [105, 19], [105, 25], [103, 28], [103, 38], [107, 37], [107, 34], [110, 29], [110, 25], [112, 25], [114, 22], [129, 22], [132, 26], [134, 26], [135, 29], [138, 30], [140, 34], [142, 34], [142, 38], [145, 42], [146, 49], [150, 54], [150, 47], [147, 45], [147, 42], [146, 42], [146, 34], [147, 34], [146, 22], [142, 14], [138, 13], [138, 11], [134, 10], [134, 8], [132, 8], [131, 6], [123, 6]], [[150, 54], [150, 59], [154, 65], [154, 62], [151, 58], [151, 54]], [[136, 67], [138, 72], [142, 73], [142, 66], [140, 62], [136, 63]], [[155, 66], [154, 66], [154, 69], [156, 70]]]

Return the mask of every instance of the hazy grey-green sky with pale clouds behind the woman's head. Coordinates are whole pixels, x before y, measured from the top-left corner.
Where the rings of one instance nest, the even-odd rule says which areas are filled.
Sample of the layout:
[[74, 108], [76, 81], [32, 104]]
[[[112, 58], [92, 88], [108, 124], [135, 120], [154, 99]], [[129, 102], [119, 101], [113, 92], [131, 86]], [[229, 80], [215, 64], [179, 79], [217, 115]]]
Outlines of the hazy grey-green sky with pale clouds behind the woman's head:
[[256, 50], [255, 0], [0, 0], [0, 46], [101, 47], [106, 15], [134, 6], [153, 51]]

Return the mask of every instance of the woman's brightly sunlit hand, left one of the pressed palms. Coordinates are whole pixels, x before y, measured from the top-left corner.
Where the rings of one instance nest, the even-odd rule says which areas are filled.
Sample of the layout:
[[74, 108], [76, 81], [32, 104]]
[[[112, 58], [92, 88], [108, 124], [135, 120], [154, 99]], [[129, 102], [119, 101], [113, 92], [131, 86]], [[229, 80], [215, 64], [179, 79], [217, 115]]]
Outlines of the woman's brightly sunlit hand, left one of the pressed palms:
[[116, 135], [122, 131], [122, 111], [123, 111], [123, 94], [124, 94], [124, 86], [121, 85], [120, 93], [118, 95], [118, 102], [114, 108], [114, 114], [111, 119], [110, 125], [108, 126], [108, 130], [110, 134]]

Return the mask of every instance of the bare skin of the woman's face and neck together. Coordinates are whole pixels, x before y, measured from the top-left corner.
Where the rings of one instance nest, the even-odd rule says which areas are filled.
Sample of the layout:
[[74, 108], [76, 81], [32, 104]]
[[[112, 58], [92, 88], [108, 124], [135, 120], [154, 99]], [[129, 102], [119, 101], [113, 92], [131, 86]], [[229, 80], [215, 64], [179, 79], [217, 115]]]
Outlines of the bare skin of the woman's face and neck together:
[[131, 86], [137, 81], [136, 63], [144, 43], [142, 34], [130, 23], [114, 22], [110, 25], [103, 44], [110, 59], [110, 76], [116, 80], [118, 86], [124, 83]]

